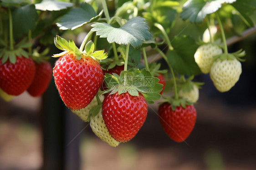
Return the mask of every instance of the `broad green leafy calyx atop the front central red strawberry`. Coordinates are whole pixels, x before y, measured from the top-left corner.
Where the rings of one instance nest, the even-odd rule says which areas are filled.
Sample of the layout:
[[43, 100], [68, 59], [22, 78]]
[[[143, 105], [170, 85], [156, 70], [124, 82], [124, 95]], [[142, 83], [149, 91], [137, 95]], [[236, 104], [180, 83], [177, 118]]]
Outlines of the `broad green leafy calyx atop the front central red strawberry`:
[[120, 75], [113, 73], [113, 75], [106, 74], [104, 82], [107, 86], [107, 90], [102, 94], [110, 93], [118, 94], [129, 93], [133, 96], [138, 96], [141, 93], [149, 104], [153, 104], [154, 100], [159, 100], [162, 91], [162, 84], [159, 84], [159, 79], [152, 76], [151, 73], [146, 70], [138, 70], [132, 68], [128, 71], [122, 71]]

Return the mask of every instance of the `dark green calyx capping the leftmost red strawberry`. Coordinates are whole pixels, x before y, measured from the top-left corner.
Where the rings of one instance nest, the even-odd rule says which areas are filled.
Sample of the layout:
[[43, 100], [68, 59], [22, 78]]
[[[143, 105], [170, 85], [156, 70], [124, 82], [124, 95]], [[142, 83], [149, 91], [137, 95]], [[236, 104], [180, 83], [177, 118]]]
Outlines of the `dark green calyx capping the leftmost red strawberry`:
[[14, 45], [14, 49], [10, 50], [8, 45], [5, 43], [1, 43], [4, 48], [0, 50], [0, 59], [2, 59], [2, 64], [5, 64], [7, 60], [10, 60], [10, 63], [15, 64], [16, 63], [16, 57], [25, 57], [29, 58], [29, 54], [25, 48], [31, 47], [31, 43], [26, 43], [26, 40], [20, 41], [18, 44]]

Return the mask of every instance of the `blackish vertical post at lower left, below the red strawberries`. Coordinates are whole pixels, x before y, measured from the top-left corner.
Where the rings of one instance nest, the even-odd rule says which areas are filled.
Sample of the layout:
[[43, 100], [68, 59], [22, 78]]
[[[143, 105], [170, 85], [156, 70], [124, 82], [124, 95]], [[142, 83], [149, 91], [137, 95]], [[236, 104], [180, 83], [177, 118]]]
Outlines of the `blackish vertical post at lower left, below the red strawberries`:
[[64, 168], [64, 107], [52, 80], [43, 96], [43, 170]]

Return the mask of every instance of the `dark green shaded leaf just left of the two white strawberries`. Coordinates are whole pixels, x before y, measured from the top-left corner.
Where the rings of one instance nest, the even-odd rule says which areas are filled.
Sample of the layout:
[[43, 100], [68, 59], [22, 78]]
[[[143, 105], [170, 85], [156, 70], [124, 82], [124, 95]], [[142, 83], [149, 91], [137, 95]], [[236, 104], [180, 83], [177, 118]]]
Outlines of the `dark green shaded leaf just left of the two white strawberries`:
[[195, 51], [198, 45], [195, 40], [188, 37], [176, 37], [172, 42], [174, 50], [170, 50], [167, 54], [167, 59], [173, 69], [181, 75], [197, 75], [200, 74], [200, 68], [195, 63]]

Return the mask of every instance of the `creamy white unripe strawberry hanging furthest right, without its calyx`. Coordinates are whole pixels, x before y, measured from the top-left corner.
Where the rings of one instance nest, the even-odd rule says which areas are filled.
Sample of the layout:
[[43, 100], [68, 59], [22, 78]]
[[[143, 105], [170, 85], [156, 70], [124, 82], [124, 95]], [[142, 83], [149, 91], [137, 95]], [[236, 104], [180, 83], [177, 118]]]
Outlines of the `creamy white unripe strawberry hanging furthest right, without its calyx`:
[[236, 84], [241, 73], [241, 63], [237, 59], [217, 59], [211, 66], [210, 78], [217, 90], [225, 92], [230, 90]]

